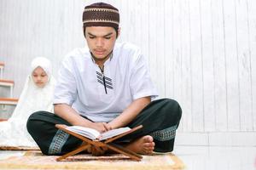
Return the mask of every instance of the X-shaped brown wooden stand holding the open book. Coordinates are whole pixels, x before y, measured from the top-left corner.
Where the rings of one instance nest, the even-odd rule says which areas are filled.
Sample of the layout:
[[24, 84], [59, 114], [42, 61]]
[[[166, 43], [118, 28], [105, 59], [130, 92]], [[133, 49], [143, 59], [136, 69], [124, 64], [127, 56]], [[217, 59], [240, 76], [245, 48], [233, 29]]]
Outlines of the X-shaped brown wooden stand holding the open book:
[[135, 161], [141, 161], [141, 159], [143, 158], [143, 156], [140, 156], [138, 155], [137, 153], [131, 151], [131, 150], [127, 150], [125, 149], [124, 147], [120, 146], [119, 144], [113, 144], [113, 140], [115, 139], [119, 139], [129, 133], [133, 133], [135, 131], [137, 131], [138, 129], [142, 128], [143, 125], [140, 125], [140, 126], [137, 126], [137, 127], [133, 127], [131, 128], [130, 131], [126, 132], [126, 133], [121, 133], [117, 136], [114, 136], [113, 138], [110, 138], [110, 139], [106, 139], [106, 140], [102, 140], [102, 141], [99, 141], [99, 140], [91, 140], [91, 139], [88, 139], [78, 133], [73, 133], [72, 131], [70, 130], [67, 130], [67, 126], [66, 125], [63, 125], [63, 124], [56, 124], [55, 127], [63, 130], [64, 132], [66, 133], [69, 133], [81, 140], [83, 140], [83, 143], [82, 145], [80, 145], [77, 149], [71, 151], [71, 152], [68, 152], [67, 154], [63, 155], [63, 156], [60, 156], [56, 159], [56, 161], [61, 161], [62, 159], [65, 159], [67, 158], [68, 156], [73, 156], [75, 154], [78, 154], [79, 152], [83, 151], [83, 150], [86, 150], [87, 148], [90, 147], [90, 144], [91, 145], [94, 145], [96, 147], [102, 147], [102, 146], [105, 146], [107, 147], [109, 150], [113, 150], [117, 153], [120, 153], [120, 154], [123, 154], [125, 156], [129, 156], [132, 160], [135, 160]]

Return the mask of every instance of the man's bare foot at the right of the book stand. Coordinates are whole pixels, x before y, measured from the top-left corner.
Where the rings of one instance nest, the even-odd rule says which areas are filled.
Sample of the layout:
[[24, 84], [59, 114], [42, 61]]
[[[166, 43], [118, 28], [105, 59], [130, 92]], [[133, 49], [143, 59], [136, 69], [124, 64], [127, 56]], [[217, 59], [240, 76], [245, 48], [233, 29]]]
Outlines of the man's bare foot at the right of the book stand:
[[152, 136], [146, 135], [132, 141], [131, 144], [127, 144], [125, 148], [134, 151], [137, 154], [152, 155], [154, 150], [154, 140]]

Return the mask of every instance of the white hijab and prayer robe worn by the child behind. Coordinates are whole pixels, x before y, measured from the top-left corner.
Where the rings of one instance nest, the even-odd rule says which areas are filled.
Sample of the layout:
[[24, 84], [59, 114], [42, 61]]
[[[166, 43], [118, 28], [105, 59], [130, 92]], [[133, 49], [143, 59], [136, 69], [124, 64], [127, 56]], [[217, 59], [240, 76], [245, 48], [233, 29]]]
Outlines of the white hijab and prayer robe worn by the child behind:
[[[32, 81], [32, 72], [38, 66], [48, 76], [48, 82], [43, 88], [38, 88]], [[52, 76], [52, 65], [49, 59], [44, 57], [33, 59], [30, 74], [26, 77], [15, 111], [7, 122], [0, 122], [0, 146], [37, 146], [26, 130], [26, 122], [35, 111], [53, 111], [54, 88], [55, 78]]]

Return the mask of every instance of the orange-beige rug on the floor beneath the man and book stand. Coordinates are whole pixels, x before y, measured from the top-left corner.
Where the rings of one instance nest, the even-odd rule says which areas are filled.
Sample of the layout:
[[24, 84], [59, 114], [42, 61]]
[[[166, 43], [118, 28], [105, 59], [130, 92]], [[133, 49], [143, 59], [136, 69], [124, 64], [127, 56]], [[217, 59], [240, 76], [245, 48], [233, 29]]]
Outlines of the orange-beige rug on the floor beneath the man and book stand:
[[24, 156], [12, 156], [0, 160], [1, 169], [129, 169], [129, 170], [172, 170], [183, 169], [183, 161], [172, 153], [143, 156], [142, 161], [131, 161], [127, 156], [112, 154], [91, 156], [79, 154], [55, 161], [58, 156], [44, 156], [38, 151], [26, 152]]

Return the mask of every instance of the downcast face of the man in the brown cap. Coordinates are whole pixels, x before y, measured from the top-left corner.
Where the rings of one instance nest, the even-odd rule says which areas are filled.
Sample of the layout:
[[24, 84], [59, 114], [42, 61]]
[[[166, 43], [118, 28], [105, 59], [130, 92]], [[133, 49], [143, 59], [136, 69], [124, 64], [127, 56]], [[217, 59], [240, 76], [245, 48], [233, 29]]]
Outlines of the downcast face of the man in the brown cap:
[[113, 27], [108, 26], [88, 26], [85, 29], [85, 37], [96, 62], [104, 62], [113, 50], [116, 41], [116, 31]]

